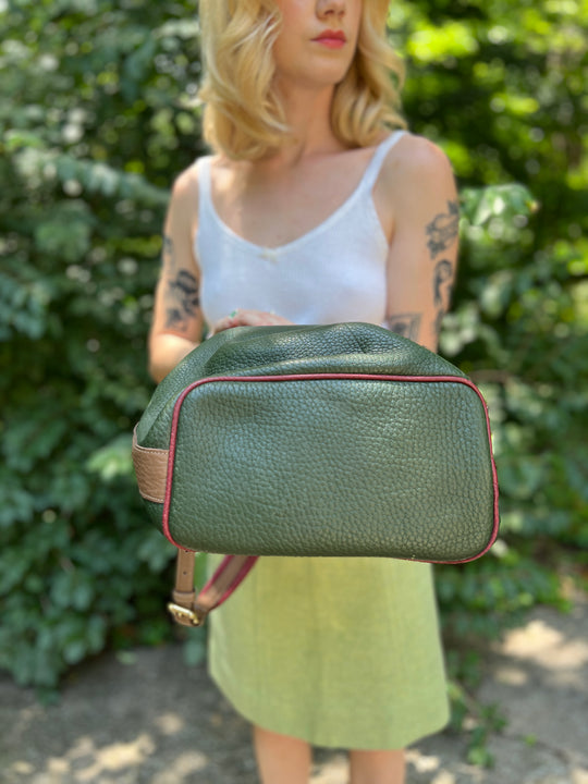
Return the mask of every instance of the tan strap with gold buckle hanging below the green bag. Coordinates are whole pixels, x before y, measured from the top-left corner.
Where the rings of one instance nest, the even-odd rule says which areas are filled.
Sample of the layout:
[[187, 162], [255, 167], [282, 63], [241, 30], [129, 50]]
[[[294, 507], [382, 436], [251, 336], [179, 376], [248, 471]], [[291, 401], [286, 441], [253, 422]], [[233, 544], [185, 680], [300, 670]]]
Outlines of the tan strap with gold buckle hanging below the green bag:
[[196, 553], [177, 550], [175, 589], [168, 604], [173, 620], [183, 626], [201, 626], [208, 613], [229, 599], [255, 565], [254, 555], [226, 555], [219, 568], [196, 596], [194, 559]]

